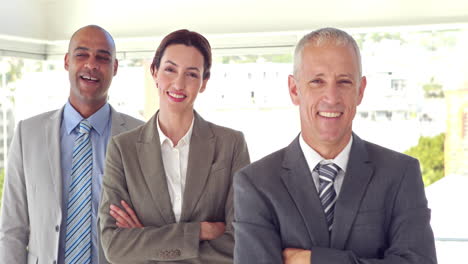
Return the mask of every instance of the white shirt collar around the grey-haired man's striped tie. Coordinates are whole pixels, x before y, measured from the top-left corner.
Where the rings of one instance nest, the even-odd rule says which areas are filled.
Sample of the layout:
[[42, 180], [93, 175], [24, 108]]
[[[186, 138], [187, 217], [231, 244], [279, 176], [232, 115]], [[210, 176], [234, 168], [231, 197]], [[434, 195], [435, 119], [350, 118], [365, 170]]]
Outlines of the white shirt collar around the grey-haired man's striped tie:
[[312, 179], [314, 180], [315, 187], [317, 188], [317, 193], [319, 192], [320, 184], [319, 184], [319, 174], [318, 174], [318, 171], [315, 170], [315, 167], [319, 163], [322, 165], [335, 163], [335, 165], [340, 167], [340, 170], [338, 171], [338, 174], [336, 175], [335, 184], [334, 184], [336, 196], [338, 197], [338, 195], [340, 194], [341, 185], [343, 184], [343, 179], [346, 173], [346, 166], [348, 165], [349, 153], [351, 151], [352, 144], [353, 144], [353, 137], [351, 136], [351, 139], [349, 140], [346, 147], [334, 159], [327, 160], [323, 158], [322, 156], [320, 156], [320, 154], [318, 154], [317, 151], [315, 151], [313, 148], [307, 145], [301, 133], [299, 137], [299, 145], [301, 146], [307, 165], [309, 166], [310, 172], [312, 174]]

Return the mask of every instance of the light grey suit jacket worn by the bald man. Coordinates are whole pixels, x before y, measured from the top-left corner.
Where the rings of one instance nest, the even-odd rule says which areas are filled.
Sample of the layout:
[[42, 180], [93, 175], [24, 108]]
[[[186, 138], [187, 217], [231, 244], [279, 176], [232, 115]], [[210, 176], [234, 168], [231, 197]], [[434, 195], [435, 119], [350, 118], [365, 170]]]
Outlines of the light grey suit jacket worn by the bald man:
[[[10, 147], [0, 221], [1, 263], [55, 263], [62, 221], [63, 108], [20, 121]], [[111, 135], [143, 122], [111, 108]], [[106, 263], [100, 258], [101, 263]]]

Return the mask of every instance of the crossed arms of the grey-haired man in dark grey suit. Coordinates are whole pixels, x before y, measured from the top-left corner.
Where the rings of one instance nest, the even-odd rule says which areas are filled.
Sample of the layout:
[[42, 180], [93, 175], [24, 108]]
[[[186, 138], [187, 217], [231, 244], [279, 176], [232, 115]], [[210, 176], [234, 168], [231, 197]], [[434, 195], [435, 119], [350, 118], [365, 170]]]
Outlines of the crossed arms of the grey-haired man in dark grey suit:
[[[268, 167], [268, 166], [267, 166]], [[395, 193], [391, 202], [392, 208], [387, 208], [389, 217], [388, 228], [384, 228], [386, 244], [382, 255], [363, 257], [355, 248], [357, 243], [375, 248], [370, 241], [357, 239], [352, 233], [344, 249], [318, 247], [310, 244], [308, 248], [289, 248], [291, 244], [307, 244], [310, 242], [307, 231], [301, 242], [291, 241], [294, 236], [288, 236], [285, 230], [298, 230], [299, 226], [291, 227], [291, 217], [285, 216], [270, 197], [284, 194], [281, 186], [275, 190], [267, 189], [264, 182], [259, 184], [258, 174], [254, 170], [242, 170], [234, 177], [235, 205], [235, 250], [234, 261], [238, 264], [428, 264], [437, 263], [434, 249], [434, 237], [429, 225], [430, 211], [424, 195], [419, 164], [408, 162], [404, 175], [398, 185], [388, 191]], [[271, 174], [269, 177], [274, 177]], [[380, 178], [379, 178], [380, 180]], [[393, 189], [395, 187], [395, 189]], [[268, 190], [268, 194], [266, 191]], [[382, 192], [384, 192], [382, 190]], [[280, 194], [281, 193], [281, 194]], [[385, 193], [385, 192], [384, 192]], [[271, 195], [271, 196], [269, 196]], [[366, 198], [364, 198], [366, 199]], [[306, 201], [304, 201], [306, 202]], [[291, 209], [292, 208], [292, 209]], [[295, 210], [296, 205], [290, 203], [288, 212]], [[286, 210], [286, 209], [285, 209]], [[285, 219], [290, 219], [285, 221]], [[297, 221], [301, 223], [301, 219]], [[380, 222], [378, 225], [386, 225]], [[364, 229], [361, 229], [361, 232]], [[297, 234], [296, 234], [297, 235]], [[297, 236], [296, 236], [297, 237]], [[359, 241], [358, 241], [359, 240]], [[306, 242], [304, 242], [306, 241]]]

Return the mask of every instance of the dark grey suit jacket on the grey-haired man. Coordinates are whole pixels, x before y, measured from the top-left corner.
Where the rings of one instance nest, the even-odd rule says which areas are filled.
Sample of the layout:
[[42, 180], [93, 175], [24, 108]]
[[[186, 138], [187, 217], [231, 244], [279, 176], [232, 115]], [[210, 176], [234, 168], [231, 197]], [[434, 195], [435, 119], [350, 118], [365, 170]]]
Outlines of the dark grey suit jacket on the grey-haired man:
[[234, 208], [235, 263], [283, 263], [285, 248], [312, 264], [437, 263], [418, 161], [356, 135], [331, 236], [298, 138], [235, 175]]

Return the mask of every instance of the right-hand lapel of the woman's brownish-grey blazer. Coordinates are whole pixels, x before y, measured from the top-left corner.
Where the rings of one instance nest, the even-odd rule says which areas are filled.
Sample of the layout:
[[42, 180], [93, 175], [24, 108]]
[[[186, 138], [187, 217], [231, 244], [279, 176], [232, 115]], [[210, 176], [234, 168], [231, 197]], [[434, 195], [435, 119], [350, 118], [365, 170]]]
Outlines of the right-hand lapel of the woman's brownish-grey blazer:
[[215, 137], [208, 123], [196, 112], [190, 139], [187, 177], [182, 203], [181, 221], [190, 219], [200, 196], [205, 189], [208, 175], [213, 164]]

